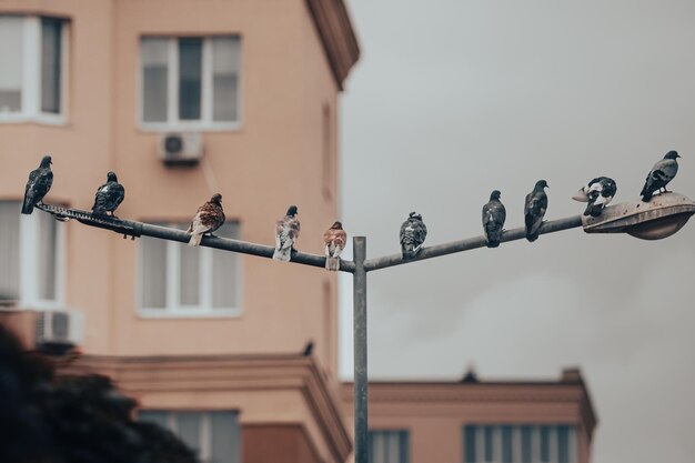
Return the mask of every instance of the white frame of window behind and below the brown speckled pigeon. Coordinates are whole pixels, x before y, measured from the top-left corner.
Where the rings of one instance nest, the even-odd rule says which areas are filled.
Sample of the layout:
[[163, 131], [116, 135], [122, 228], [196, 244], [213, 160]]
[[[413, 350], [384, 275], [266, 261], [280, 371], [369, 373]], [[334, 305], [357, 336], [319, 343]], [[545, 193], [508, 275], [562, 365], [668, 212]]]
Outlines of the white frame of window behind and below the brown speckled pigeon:
[[[161, 223], [162, 227], [180, 228], [181, 223]], [[235, 224], [238, 233], [241, 232], [241, 222], [238, 220], [228, 220], [228, 224]], [[155, 238], [151, 238], [157, 240]], [[242, 254], [236, 255], [234, 263], [234, 284], [236, 288], [235, 299], [236, 305], [232, 308], [213, 308], [213, 251], [212, 248], [197, 246], [195, 250], [200, 253], [199, 258], [199, 296], [200, 303], [198, 305], [182, 305], [180, 303], [181, 292], [179, 281], [181, 278], [181, 246], [187, 243], [180, 243], [175, 241], [165, 241], [165, 289], [164, 289], [164, 306], [163, 308], [147, 308], [142, 305], [144, 288], [143, 282], [143, 241], [138, 245], [137, 268], [135, 272], [135, 296], [137, 296], [137, 312], [141, 318], [147, 319], [210, 319], [210, 318], [238, 318], [243, 313], [243, 280], [242, 269], [243, 261]], [[225, 252], [216, 250], [219, 252]]]

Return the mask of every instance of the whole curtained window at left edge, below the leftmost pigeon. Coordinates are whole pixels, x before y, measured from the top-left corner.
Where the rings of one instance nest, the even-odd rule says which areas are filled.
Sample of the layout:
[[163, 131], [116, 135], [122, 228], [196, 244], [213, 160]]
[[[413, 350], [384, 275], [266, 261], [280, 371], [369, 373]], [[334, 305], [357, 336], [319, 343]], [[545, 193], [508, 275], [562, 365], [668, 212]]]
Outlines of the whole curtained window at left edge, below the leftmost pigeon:
[[62, 225], [19, 201], [0, 201], [0, 304], [58, 308], [62, 301]]

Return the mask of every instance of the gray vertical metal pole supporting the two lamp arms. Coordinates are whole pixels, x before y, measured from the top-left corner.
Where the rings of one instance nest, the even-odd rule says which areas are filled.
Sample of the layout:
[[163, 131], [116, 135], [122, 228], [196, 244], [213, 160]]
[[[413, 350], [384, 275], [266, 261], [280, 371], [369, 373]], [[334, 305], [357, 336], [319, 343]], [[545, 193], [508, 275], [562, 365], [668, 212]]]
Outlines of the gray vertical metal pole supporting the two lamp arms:
[[353, 260], [353, 318], [354, 318], [354, 405], [355, 405], [355, 463], [367, 463], [369, 426], [366, 415], [366, 238], [352, 239]]

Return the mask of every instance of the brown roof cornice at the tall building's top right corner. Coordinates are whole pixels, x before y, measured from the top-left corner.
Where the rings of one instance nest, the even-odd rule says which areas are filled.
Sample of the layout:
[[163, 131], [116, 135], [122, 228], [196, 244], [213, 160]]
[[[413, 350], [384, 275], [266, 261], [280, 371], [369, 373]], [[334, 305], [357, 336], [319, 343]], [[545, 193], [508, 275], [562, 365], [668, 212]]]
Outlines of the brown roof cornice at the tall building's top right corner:
[[306, 0], [339, 89], [360, 58], [360, 46], [343, 0]]

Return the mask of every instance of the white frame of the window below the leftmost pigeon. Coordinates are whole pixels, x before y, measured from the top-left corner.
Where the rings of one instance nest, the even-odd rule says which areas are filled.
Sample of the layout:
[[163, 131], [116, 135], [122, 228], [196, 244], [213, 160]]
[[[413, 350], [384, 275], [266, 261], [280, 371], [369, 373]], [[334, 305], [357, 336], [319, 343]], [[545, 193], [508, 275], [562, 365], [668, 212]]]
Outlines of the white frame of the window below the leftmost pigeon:
[[[21, 201], [1, 200], [17, 204], [19, 214], [19, 298], [14, 301], [20, 310], [62, 310], [66, 308], [66, 228], [60, 222], [56, 223], [56, 269], [54, 286], [56, 299], [42, 299], [40, 296], [39, 273], [39, 238], [41, 235], [41, 222], [34, 214], [20, 214]], [[36, 213], [36, 212], [34, 212]], [[42, 212], [38, 212], [42, 213]], [[48, 217], [53, 220], [52, 217]]]

